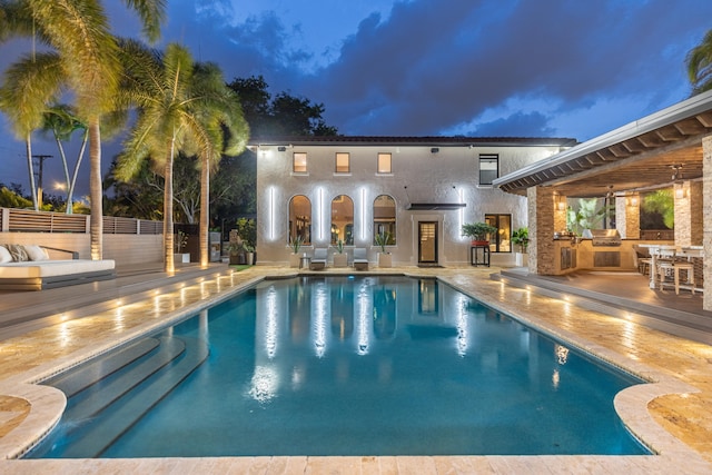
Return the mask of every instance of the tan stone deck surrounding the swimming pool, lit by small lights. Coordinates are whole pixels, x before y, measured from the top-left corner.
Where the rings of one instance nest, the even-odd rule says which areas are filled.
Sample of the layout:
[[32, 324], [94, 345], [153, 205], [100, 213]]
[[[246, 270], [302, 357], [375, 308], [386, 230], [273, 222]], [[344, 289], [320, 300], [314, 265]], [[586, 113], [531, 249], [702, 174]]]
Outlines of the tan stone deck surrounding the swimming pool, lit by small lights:
[[[135, 277], [125, 290], [106, 294], [120, 303], [92, 303], [86, 313], [63, 308], [49, 315], [43, 309], [38, 319], [41, 325], [31, 324], [28, 310], [42, 307], [41, 298], [34, 306], [29, 301], [6, 310], [0, 296], [0, 316], [21, 314], [24, 328], [0, 342], [0, 454], [6, 458], [0, 461], [0, 473], [712, 473], [711, 346], [586, 310], [564, 298], [510, 287], [490, 278], [496, 270], [396, 267], [370, 271], [437, 276], [497, 310], [653, 382], [622, 392], [615, 405], [624, 423], [657, 455], [12, 459], [49, 431], [63, 408], [61, 394], [33, 383], [194, 315], [266, 275], [297, 271], [256, 266], [234, 273], [221, 265], [199, 275], [186, 273], [185, 280], [149, 280], [148, 274]], [[339, 270], [327, 268], [324, 273]], [[88, 291], [92, 291], [81, 287], [67, 288], [63, 294], [68, 301], [76, 299], [77, 307], [81, 306], [80, 296], [87, 304]]]

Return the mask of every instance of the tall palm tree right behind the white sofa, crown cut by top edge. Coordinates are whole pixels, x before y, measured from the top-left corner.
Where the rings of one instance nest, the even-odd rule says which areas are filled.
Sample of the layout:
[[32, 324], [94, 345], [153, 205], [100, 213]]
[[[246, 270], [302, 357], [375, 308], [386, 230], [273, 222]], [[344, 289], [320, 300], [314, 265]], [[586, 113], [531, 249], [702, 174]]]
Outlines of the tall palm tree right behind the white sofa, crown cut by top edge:
[[[144, 33], [156, 40], [165, 14], [165, 0], [123, 0], [123, 3], [139, 14]], [[105, 9], [99, 0], [6, 0], [0, 8], [2, 17], [13, 20], [4, 21], [12, 33], [37, 32], [39, 39], [58, 53], [66, 85], [75, 93], [77, 113], [87, 123], [91, 258], [101, 259], [101, 119], [113, 109], [119, 75], [117, 42], [110, 33]], [[17, 11], [21, 13], [12, 17]], [[27, 21], [28, 18], [31, 21]]]

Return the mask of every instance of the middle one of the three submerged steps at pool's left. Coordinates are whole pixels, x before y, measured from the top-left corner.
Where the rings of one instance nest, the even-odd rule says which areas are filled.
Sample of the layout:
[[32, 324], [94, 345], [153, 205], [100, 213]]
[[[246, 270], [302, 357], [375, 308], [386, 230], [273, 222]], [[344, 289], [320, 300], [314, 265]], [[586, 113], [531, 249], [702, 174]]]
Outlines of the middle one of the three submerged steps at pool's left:
[[[152, 375], [162, 369], [166, 365], [179, 357], [186, 350], [186, 344], [179, 338], [160, 338], [160, 346], [150, 357], [138, 360], [130, 367], [115, 374], [110, 382], [105, 383], [101, 387], [89, 390], [90, 397], [81, 400], [77, 405], [67, 408], [65, 417], [70, 420], [83, 420], [93, 417], [101, 410], [109, 407], [116, 400], [128, 394], [135, 387], [150, 378]], [[134, 363], [134, 362], [128, 362]], [[79, 397], [82, 397], [80, 395]]]

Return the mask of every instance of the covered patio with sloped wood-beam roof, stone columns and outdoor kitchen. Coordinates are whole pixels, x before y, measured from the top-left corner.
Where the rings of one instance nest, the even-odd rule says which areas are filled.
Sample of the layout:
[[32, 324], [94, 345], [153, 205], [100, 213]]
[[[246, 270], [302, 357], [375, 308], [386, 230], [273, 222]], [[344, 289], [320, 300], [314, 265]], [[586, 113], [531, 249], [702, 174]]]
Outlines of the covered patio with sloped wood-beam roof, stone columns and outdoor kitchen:
[[[704, 219], [712, 211], [711, 160], [712, 91], [501, 177], [494, 180], [494, 186], [528, 198], [531, 275], [631, 270], [632, 246], [639, 244], [694, 248], [702, 256], [712, 255], [712, 220]], [[673, 190], [673, 239], [641, 234], [641, 194], [662, 188]], [[554, 238], [555, 232], [566, 229], [566, 199], [593, 197], [615, 198], [620, 249], [592, 248], [591, 241]], [[592, 264], [595, 263], [592, 256], [605, 250], [616, 251], [620, 260]], [[712, 270], [708, 260], [700, 266], [702, 281], [695, 285], [703, 293], [703, 310], [712, 310]]]

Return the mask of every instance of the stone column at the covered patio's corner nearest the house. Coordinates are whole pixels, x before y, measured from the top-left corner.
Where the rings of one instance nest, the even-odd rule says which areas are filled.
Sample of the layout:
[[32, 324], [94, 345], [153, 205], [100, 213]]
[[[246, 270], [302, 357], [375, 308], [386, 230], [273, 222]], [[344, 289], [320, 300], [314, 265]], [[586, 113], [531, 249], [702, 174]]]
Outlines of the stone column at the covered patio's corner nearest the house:
[[526, 197], [530, 229], [528, 271], [542, 276], [554, 275], [554, 231], [566, 227], [566, 209], [564, 207], [563, 210], [557, 210], [556, 205], [564, 198], [560, 198], [551, 188], [542, 187], [528, 188]]

